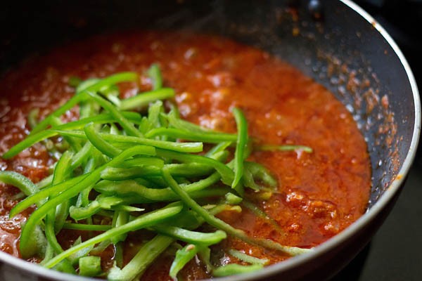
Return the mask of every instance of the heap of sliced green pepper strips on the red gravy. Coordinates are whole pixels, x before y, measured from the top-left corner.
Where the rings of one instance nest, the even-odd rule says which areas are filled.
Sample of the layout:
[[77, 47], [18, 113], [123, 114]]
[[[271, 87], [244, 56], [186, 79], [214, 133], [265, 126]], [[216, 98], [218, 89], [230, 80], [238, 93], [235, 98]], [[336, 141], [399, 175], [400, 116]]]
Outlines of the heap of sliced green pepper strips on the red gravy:
[[[116, 84], [136, 81], [136, 73], [122, 72], [86, 81], [73, 77], [70, 84], [76, 93], [67, 103], [41, 122], [37, 121], [37, 110], [31, 112], [31, 133], [3, 158], [10, 159], [41, 142], [58, 161], [51, 176], [37, 184], [14, 171], [0, 172], [1, 182], [14, 185], [26, 196], [11, 210], [10, 217], [37, 205], [22, 226], [23, 258], [39, 256], [42, 266], [65, 273], [134, 280], [162, 252], [172, 248], [174, 261], [169, 275], [173, 278], [196, 255], [213, 276], [245, 273], [267, 263], [229, 249], [229, 254], [243, 261], [243, 265], [213, 265], [209, 246], [221, 242], [226, 235], [291, 256], [308, 251], [249, 237], [215, 214], [241, 211], [243, 201], [243, 207], [276, 225], [262, 210], [243, 200], [244, 188], [251, 188], [262, 197], [270, 196], [271, 188], [276, 188], [276, 181], [264, 166], [246, 159], [253, 149], [312, 149], [300, 145], [254, 147], [248, 137], [248, 124], [238, 108], [232, 110], [236, 134], [186, 122], [172, 103], [170, 112], [163, 106], [162, 100], [174, 97], [174, 90], [162, 87], [158, 65], [152, 65], [147, 74], [153, 90], [123, 100]], [[77, 105], [79, 120], [63, 124], [60, 116]], [[58, 136], [63, 141], [58, 142]], [[203, 143], [213, 146], [199, 154]], [[227, 162], [234, 145], [234, 157]], [[203, 223], [217, 230], [196, 230]], [[62, 229], [89, 231], [90, 236], [83, 242], [79, 237], [72, 247], [63, 249], [56, 238]], [[124, 240], [129, 232], [141, 229], [155, 236], [144, 242], [124, 265]], [[99, 254], [110, 244], [115, 247], [115, 266], [103, 273]]]

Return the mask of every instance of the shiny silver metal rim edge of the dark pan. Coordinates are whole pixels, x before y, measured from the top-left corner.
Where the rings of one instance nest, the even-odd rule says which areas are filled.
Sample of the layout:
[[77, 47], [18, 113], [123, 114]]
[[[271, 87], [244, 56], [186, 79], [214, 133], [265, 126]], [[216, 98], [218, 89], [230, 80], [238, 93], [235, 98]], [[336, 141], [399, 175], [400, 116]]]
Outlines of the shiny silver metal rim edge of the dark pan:
[[[345, 6], [347, 6], [348, 8], [351, 8], [353, 11], [355, 11], [360, 16], [362, 16], [364, 20], [366, 20], [371, 25], [373, 25], [373, 27], [382, 35], [382, 37], [387, 41], [387, 43], [390, 45], [392, 50], [395, 52], [395, 55], [397, 55], [397, 57], [399, 58], [407, 74], [407, 77], [409, 79], [409, 84], [411, 86], [411, 91], [413, 93], [413, 98], [414, 98], [414, 112], [415, 112], [414, 132], [411, 138], [409, 152], [407, 153], [407, 156], [404, 159], [404, 162], [402, 163], [402, 167], [398, 173], [398, 175], [401, 175], [401, 176], [397, 177], [391, 183], [388, 190], [384, 192], [384, 194], [380, 197], [380, 199], [373, 205], [373, 207], [369, 209], [369, 211], [366, 212], [366, 214], [358, 218], [357, 221], [352, 223], [352, 225], [347, 227], [341, 233], [338, 233], [338, 235], [335, 235], [331, 239], [315, 247], [313, 251], [301, 256], [295, 256], [291, 259], [288, 259], [287, 261], [283, 261], [281, 263], [276, 263], [272, 266], [268, 266], [267, 268], [265, 268], [265, 270], [260, 270], [256, 273], [247, 273], [244, 275], [233, 275], [229, 277], [216, 278], [216, 280], [221, 280], [221, 281], [223, 280], [227, 280], [227, 281], [228, 280], [230, 281], [256, 280], [256, 279], [261, 279], [264, 277], [269, 277], [271, 275], [276, 275], [277, 273], [281, 271], [289, 270], [291, 268], [300, 266], [300, 264], [311, 261], [312, 259], [316, 259], [317, 256], [321, 256], [322, 254], [330, 251], [331, 249], [338, 247], [339, 244], [342, 244], [346, 240], [350, 239], [350, 237], [352, 237], [355, 233], [358, 233], [359, 230], [362, 230], [363, 228], [368, 226], [369, 223], [373, 221], [373, 219], [376, 218], [378, 214], [381, 213], [381, 211], [385, 208], [385, 206], [395, 197], [395, 195], [397, 195], [397, 192], [399, 192], [400, 188], [404, 184], [406, 175], [409, 173], [411, 164], [413, 163], [414, 158], [416, 156], [419, 135], [421, 132], [421, 100], [419, 97], [418, 87], [416, 85], [414, 74], [411, 72], [409, 63], [407, 63], [406, 58], [404, 58], [402, 51], [400, 51], [395, 41], [392, 39], [392, 37], [390, 37], [388, 32], [386, 32], [386, 30], [378, 22], [376, 22], [376, 20], [371, 15], [369, 15], [369, 13], [364, 11], [364, 9], [362, 9], [360, 6], [355, 4], [353, 1], [340, 0], [340, 2], [342, 2], [343, 4], [345, 4]], [[2, 271], [4, 272], [1, 275], [7, 274], [5, 273], [6, 270], [4, 270], [4, 266], [14, 266], [15, 268], [18, 268], [19, 270], [23, 270], [28, 274], [35, 274], [37, 276], [46, 277], [53, 280], [63, 280], [63, 281], [94, 280], [93, 278], [82, 277], [78, 275], [69, 275], [66, 273], [60, 273], [58, 271], [49, 270], [37, 264], [28, 263], [25, 260], [18, 259], [14, 256], [4, 253], [3, 251], [0, 251], [0, 261], [4, 263], [0, 267], [3, 269]]]

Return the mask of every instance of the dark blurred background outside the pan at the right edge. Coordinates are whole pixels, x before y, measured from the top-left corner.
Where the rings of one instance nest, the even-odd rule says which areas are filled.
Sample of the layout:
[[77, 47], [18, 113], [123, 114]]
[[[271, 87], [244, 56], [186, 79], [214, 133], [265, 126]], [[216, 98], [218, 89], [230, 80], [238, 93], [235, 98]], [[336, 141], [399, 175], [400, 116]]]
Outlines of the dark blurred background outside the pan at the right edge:
[[[395, 39], [422, 89], [422, 1], [357, 0]], [[422, 280], [422, 145], [390, 216], [331, 281]]]

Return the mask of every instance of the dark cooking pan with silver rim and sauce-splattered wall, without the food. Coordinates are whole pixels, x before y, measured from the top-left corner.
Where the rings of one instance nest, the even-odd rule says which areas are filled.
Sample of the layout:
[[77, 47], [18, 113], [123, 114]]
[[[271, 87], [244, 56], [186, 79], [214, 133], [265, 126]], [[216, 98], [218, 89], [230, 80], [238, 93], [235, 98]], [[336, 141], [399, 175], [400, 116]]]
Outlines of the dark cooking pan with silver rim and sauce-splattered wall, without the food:
[[[407, 61], [383, 27], [352, 1], [44, 1], [0, 12], [0, 72], [28, 55], [92, 34], [189, 30], [257, 46], [331, 90], [368, 143], [372, 190], [366, 214], [316, 247], [247, 275], [221, 280], [326, 280], [381, 226], [416, 153], [421, 106]], [[6, 94], [6, 93], [4, 93]], [[0, 252], [1, 280], [88, 280]]]

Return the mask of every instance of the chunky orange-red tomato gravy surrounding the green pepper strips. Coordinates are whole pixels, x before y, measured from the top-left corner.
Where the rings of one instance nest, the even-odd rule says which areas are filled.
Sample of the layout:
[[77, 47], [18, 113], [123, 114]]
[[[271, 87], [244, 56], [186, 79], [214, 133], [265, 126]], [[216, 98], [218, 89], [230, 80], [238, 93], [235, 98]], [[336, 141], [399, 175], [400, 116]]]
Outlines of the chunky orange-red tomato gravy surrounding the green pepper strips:
[[[340, 233], [364, 214], [371, 188], [370, 160], [350, 112], [324, 86], [295, 67], [257, 48], [221, 37], [170, 32], [102, 35], [25, 61], [0, 81], [0, 153], [29, 133], [30, 110], [39, 108], [44, 117], [73, 95], [75, 89], [68, 86], [70, 77], [87, 79], [138, 72], [139, 83], [120, 87], [124, 97], [133, 96], [151, 89], [145, 72], [152, 63], [160, 65], [165, 86], [176, 90], [175, 100], [185, 119], [217, 131], [234, 132], [236, 123], [230, 108], [236, 106], [245, 112], [250, 136], [258, 143], [307, 145], [314, 150], [310, 154], [253, 152], [250, 157], [267, 166], [279, 182], [278, 192], [269, 200], [254, 199], [253, 192], [248, 194], [279, 228], [248, 209], [240, 214], [220, 214], [224, 221], [255, 237], [309, 248]], [[65, 119], [76, 115], [77, 110], [72, 110]], [[34, 182], [48, 176], [51, 164], [53, 159], [41, 144], [11, 160], [0, 159], [1, 170], [18, 171]], [[13, 197], [16, 193], [16, 188], [0, 185], [0, 249], [19, 256], [20, 223], [31, 210], [8, 218], [18, 202]], [[69, 230], [61, 234], [62, 240], [72, 241], [78, 235]], [[64, 247], [72, 241], [63, 241]], [[271, 263], [288, 258], [231, 237], [219, 247], [266, 257]], [[113, 249], [103, 258], [108, 259], [103, 266], [110, 266]], [[223, 254], [220, 261], [237, 260]], [[170, 257], [162, 255], [143, 280], [171, 280], [171, 262]], [[181, 274], [187, 279], [209, 277], [194, 260]]]

